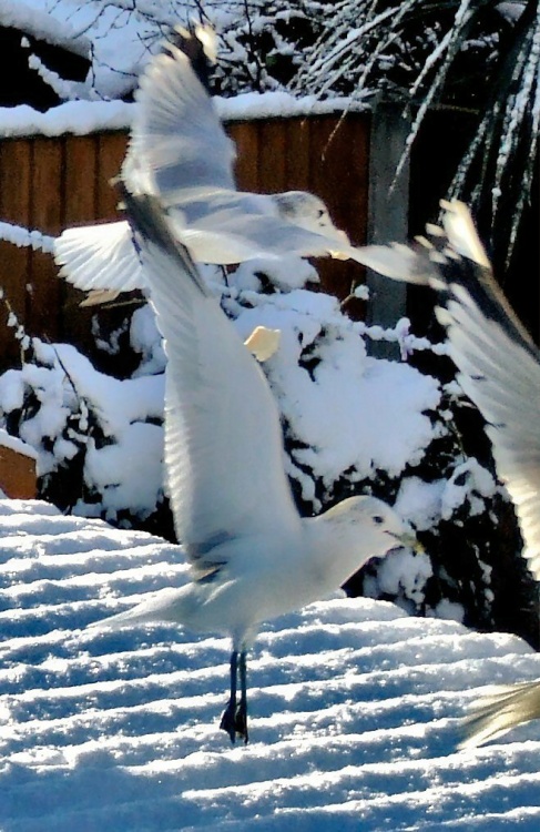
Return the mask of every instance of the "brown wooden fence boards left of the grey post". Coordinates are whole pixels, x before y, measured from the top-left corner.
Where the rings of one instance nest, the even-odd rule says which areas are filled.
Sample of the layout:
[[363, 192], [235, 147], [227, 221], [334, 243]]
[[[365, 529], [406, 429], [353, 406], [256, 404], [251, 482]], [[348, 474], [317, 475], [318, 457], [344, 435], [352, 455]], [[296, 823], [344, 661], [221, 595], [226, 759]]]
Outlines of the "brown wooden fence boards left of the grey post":
[[[236, 122], [241, 189], [277, 192], [305, 189], [319, 194], [337, 225], [355, 243], [366, 236], [368, 211], [369, 125], [366, 114], [269, 119]], [[49, 139], [31, 136], [0, 142], [0, 220], [57, 235], [78, 223], [112, 220], [116, 195], [109, 181], [121, 166], [125, 133]], [[319, 261], [323, 285], [344, 295], [358, 266]], [[91, 318], [105, 331], [124, 312], [81, 310], [83, 295], [57, 277], [52, 256], [0, 242], [0, 284], [26, 331], [68, 341], [89, 352]], [[13, 331], [0, 312], [1, 368], [18, 358]]]

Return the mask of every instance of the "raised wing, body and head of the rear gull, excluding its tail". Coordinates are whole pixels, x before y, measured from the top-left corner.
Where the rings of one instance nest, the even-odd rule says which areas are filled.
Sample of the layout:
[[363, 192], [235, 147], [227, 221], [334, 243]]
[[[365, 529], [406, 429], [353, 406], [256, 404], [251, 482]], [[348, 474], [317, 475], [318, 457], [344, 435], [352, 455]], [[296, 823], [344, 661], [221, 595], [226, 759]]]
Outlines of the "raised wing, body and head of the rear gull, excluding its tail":
[[313, 194], [236, 191], [234, 144], [182, 50], [167, 44], [150, 62], [136, 100], [124, 181], [130, 191], [156, 194], [179, 210], [172, 230], [195, 260], [232, 264], [333, 252], [358, 258]]

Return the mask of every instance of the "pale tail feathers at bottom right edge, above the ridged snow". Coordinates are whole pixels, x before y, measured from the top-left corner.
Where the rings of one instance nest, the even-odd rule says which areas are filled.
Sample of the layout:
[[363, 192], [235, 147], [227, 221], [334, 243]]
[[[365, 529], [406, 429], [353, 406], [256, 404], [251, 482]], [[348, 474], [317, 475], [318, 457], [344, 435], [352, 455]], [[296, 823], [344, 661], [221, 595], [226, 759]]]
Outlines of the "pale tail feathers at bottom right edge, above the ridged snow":
[[461, 749], [476, 748], [512, 728], [540, 718], [540, 680], [497, 688], [463, 722]]

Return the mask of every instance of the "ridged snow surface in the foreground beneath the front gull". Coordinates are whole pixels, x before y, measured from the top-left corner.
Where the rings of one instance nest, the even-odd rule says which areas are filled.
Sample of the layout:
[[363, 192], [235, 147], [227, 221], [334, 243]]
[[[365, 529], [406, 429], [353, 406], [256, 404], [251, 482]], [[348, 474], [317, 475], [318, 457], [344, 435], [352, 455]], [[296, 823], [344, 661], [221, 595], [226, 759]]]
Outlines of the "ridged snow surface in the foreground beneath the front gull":
[[540, 676], [522, 641], [335, 598], [266, 625], [252, 743], [217, 722], [225, 639], [86, 625], [180, 586], [177, 547], [0, 500], [6, 832], [538, 829], [540, 726], [457, 752], [486, 684]]

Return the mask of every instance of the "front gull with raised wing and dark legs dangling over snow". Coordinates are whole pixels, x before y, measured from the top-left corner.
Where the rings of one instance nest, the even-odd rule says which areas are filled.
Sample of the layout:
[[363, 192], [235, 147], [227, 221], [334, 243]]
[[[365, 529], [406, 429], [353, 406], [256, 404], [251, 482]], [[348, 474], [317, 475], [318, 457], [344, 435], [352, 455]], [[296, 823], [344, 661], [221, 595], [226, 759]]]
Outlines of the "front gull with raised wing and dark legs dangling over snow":
[[370, 557], [416, 541], [374, 497], [300, 518], [277, 407], [257, 362], [157, 197], [125, 190], [124, 203], [167, 354], [167, 490], [191, 581], [100, 626], [174, 621], [228, 635], [231, 696], [221, 728], [247, 742], [246, 651], [259, 623], [336, 591]]

